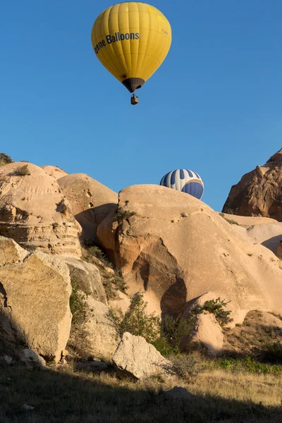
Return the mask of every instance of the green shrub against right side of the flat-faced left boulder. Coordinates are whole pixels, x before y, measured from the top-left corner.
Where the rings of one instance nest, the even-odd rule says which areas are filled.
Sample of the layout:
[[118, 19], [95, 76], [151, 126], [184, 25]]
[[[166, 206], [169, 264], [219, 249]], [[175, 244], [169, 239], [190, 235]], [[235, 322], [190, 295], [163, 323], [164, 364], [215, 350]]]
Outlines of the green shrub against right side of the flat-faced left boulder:
[[78, 281], [74, 276], [71, 278], [71, 286], [70, 308], [73, 314], [72, 322], [80, 324], [85, 321], [89, 312], [87, 295], [79, 289]]

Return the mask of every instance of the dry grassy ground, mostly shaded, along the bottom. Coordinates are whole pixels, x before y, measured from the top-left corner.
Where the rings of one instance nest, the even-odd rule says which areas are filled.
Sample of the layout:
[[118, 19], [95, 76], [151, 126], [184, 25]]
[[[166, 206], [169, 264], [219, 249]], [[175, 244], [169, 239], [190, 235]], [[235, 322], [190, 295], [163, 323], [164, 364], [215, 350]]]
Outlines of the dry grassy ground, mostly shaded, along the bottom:
[[[207, 360], [207, 359], [204, 359]], [[2, 365], [1, 423], [281, 423], [282, 373], [220, 370], [214, 362], [188, 379], [120, 380], [113, 370], [75, 372], [73, 365], [27, 369]], [[163, 391], [183, 386], [193, 400]], [[24, 404], [35, 407], [23, 410]]]

